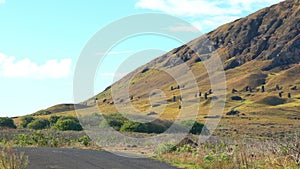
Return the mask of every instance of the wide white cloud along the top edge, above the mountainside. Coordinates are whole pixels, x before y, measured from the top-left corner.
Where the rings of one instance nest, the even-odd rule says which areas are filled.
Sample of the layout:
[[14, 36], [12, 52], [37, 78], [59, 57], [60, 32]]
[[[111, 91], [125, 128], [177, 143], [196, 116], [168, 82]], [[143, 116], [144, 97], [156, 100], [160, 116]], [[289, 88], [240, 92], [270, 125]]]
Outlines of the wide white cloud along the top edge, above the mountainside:
[[161, 11], [171, 15], [199, 17], [239, 15], [253, 6], [270, 5], [283, 0], [139, 0], [136, 8]]

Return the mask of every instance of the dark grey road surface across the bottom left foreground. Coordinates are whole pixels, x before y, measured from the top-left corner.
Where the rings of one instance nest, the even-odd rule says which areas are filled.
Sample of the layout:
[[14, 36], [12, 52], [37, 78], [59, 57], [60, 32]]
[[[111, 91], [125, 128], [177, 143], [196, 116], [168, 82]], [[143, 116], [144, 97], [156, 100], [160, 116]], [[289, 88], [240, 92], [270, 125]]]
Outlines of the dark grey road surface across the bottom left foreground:
[[28, 169], [175, 169], [168, 164], [141, 158], [126, 158], [97, 150], [63, 148], [17, 148], [29, 156]]

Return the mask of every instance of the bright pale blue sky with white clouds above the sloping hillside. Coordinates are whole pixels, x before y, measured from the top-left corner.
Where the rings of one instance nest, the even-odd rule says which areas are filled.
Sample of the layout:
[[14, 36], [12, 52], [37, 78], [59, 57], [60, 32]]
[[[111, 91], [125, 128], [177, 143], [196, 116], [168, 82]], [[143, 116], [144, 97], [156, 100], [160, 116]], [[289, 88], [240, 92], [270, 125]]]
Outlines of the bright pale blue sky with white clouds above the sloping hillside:
[[[158, 12], [184, 19], [205, 33], [279, 1], [0, 0], [0, 116], [73, 102], [73, 73], [80, 52], [98, 30], [117, 19]], [[112, 83], [114, 71], [135, 52], [168, 51], [179, 45], [156, 36], [127, 40], [109, 53], [98, 71], [95, 94]]]

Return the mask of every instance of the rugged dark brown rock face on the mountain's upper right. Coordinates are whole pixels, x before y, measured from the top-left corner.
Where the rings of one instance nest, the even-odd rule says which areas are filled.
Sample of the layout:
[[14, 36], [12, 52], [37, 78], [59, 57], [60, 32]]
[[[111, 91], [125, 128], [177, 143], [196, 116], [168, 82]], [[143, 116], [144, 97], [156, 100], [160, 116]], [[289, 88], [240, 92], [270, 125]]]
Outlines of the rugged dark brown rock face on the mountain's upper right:
[[[254, 59], [270, 60], [263, 70], [285, 68], [300, 61], [299, 1], [287, 0], [207, 34], [213, 48], [221, 49], [225, 70]], [[201, 38], [198, 42], [202, 44]], [[201, 49], [199, 51], [208, 50]], [[203, 53], [203, 52], [202, 52]]]

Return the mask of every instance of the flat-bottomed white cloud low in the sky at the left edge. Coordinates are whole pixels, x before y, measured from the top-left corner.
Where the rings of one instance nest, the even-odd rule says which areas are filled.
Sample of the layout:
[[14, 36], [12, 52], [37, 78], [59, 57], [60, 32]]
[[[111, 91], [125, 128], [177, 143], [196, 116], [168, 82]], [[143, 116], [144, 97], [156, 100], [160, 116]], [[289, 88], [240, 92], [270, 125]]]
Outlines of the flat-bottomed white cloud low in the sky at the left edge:
[[37, 65], [30, 59], [16, 60], [13, 56], [0, 53], [0, 76], [8, 78], [57, 79], [71, 74], [71, 59], [48, 60]]

